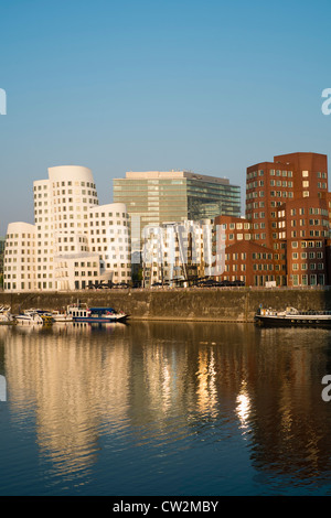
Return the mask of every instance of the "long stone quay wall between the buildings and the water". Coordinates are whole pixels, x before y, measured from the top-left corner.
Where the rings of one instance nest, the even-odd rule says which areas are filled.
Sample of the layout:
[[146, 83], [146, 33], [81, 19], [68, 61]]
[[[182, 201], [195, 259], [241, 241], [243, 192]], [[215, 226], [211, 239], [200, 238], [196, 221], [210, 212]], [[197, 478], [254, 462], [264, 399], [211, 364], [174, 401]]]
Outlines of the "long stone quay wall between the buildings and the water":
[[331, 310], [331, 290], [325, 289], [174, 289], [174, 290], [100, 290], [71, 293], [1, 293], [0, 305], [12, 313], [39, 307], [62, 310], [85, 302], [89, 306], [122, 310], [134, 320], [253, 322], [261, 304], [284, 310]]

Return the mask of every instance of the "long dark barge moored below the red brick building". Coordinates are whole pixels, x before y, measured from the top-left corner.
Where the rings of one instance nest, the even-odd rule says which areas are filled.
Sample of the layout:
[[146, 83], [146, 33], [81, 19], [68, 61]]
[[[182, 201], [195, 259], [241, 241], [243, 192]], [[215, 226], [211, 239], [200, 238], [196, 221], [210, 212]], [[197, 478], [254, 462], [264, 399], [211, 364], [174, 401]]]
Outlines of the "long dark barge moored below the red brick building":
[[260, 307], [255, 315], [255, 322], [265, 326], [331, 327], [331, 311], [298, 311], [296, 307], [276, 311], [271, 307]]

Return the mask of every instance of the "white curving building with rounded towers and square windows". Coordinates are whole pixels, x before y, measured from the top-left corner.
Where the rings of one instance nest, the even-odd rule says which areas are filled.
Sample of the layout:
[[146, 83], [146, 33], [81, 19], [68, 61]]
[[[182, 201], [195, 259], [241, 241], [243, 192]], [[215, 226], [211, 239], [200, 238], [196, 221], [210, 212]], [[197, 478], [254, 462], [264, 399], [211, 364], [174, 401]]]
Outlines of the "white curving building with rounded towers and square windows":
[[130, 282], [129, 219], [125, 204], [99, 205], [92, 171], [49, 169], [33, 183], [34, 225], [8, 226], [6, 291], [85, 289], [111, 280]]

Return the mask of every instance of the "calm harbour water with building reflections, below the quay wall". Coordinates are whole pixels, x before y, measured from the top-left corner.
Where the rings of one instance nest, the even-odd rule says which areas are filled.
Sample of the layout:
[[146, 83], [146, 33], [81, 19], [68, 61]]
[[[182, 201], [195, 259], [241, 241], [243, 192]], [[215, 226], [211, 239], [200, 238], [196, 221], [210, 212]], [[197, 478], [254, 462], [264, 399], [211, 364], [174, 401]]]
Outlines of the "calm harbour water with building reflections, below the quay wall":
[[331, 332], [0, 326], [0, 495], [329, 495]]

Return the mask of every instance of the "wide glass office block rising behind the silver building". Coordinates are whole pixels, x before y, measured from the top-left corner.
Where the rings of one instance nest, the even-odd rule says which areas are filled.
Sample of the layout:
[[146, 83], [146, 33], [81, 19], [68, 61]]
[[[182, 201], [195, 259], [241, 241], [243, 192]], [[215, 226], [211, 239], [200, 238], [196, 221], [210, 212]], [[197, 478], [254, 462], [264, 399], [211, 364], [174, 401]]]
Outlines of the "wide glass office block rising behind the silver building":
[[[241, 215], [241, 187], [227, 179], [186, 171], [128, 172], [114, 180], [114, 202], [125, 203], [142, 229], [147, 225]], [[135, 216], [135, 217], [132, 217]]]

